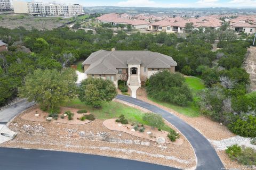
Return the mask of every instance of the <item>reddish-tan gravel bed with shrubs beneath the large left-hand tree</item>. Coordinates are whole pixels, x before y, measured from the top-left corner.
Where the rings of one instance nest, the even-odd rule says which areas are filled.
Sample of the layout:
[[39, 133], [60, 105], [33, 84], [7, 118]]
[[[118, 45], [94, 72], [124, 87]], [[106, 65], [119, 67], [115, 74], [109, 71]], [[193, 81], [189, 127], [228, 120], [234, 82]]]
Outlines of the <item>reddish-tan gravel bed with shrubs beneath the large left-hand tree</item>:
[[[79, 120], [79, 118], [82, 117], [84, 114], [78, 114], [76, 112], [79, 109], [69, 108], [69, 107], [60, 107], [60, 114], [59, 114], [58, 120], [53, 119], [49, 122], [46, 120], [49, 113], [41, 111], [38, 105], [33, 106], [33, 108], [34, 109], [31, 109], [30, 112], [21, 114], [20, 117], [23, 118], [24, 120], [33, 121], [33, 122], [67, 123], [67, 124], [78, 124], [78, 125], [91, 122], [89, 120], [84, 120], [84, 121]], [[63, 115], [66, 111], [70, 111], [71, 113], [74, 113], [73, 120], [68, 120], [68, 116], [64, 118], [60, 118], [60, 116]], [[39, 114], [39, 116], [35, 116], [35, 114]], [[86, 113], [86, 114], [90, 114], [90, 113]]]

